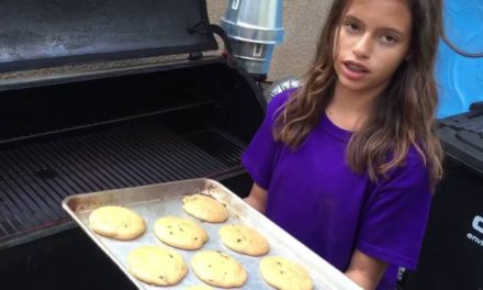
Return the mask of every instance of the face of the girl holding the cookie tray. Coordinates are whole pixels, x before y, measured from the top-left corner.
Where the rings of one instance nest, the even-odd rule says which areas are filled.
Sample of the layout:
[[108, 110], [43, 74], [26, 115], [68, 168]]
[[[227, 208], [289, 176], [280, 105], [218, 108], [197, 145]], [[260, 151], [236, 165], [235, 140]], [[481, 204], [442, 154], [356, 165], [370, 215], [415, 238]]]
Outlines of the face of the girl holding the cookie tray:
[[408, 56], [411, 29], [405, 0], [352, 1], [336, 37], [338, 85], [358, 92], [381, 92]]

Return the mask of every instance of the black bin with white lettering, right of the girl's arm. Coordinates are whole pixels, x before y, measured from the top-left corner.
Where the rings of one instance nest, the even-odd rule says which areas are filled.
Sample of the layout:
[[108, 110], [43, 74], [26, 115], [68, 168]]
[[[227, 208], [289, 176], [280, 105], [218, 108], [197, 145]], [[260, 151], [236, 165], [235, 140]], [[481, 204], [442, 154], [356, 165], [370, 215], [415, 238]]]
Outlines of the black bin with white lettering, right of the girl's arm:
[[483, 107], [440, 120], [445, 176], [405, 289], [483, 289]]

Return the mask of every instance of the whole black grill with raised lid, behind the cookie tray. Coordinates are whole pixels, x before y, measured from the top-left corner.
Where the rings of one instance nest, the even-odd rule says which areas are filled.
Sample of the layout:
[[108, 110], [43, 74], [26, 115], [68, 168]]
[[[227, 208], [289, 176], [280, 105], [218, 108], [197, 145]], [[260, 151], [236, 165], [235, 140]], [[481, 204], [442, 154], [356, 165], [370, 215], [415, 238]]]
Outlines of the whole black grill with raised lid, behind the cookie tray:
[[204, 55], [205, 1], [25, 0], [0, 16], [1, 288], [133, 287], [61, 210], [70, 194], [198, 177], [248, 192], [265, 101], [229, 52]]

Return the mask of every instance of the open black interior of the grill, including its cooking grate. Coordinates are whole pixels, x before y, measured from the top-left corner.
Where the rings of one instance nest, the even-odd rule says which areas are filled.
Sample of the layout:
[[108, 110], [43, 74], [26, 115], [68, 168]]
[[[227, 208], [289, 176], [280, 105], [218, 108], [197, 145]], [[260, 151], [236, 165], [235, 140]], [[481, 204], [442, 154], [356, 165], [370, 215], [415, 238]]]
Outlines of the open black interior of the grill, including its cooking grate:
[[13, 124], [0, 130], [2, 247], [72, 226], [69, 194], [244, 174], [262, 111], [238, 70], [215, 59], [136, 72], [0, 92]]

